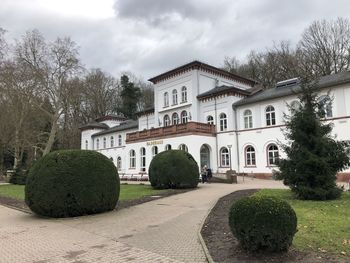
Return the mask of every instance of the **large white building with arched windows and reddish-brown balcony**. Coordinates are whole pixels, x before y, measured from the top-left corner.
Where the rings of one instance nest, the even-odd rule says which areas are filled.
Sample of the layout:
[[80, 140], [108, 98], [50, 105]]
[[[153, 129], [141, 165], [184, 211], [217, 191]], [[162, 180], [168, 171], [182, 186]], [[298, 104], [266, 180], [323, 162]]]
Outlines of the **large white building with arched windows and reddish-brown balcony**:
[[[208, 64], [193, 61], [150, 79], [154, 108], [137, 121], [105, 116], [81, 127], [81, 148], [96, 150], [120, 174], [147, 174], [153, 156], [183, 149], [214, 173], [232, 168], [238, 173], [269, 177], [283, 156], [283, 113], [298, 103], [296, 80], [262, 90], [256, 82]], [[350, 140], [350, 72], [319, 80], [319, 95], [332, 97], [325, 121], [334, 124], [338, 139]], [[338, 175], [349, 180], [350, 170]]]

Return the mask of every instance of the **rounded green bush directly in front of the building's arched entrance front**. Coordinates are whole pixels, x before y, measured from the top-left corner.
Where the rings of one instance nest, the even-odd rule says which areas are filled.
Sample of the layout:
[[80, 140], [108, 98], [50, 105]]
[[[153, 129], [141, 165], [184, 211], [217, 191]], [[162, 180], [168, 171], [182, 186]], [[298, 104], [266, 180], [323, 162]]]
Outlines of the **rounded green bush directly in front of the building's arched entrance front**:
[[157, 154], [149, 167], [149, 180], [154, 188], [194, 188], [198, 178], [197, 162], [182, 150]]

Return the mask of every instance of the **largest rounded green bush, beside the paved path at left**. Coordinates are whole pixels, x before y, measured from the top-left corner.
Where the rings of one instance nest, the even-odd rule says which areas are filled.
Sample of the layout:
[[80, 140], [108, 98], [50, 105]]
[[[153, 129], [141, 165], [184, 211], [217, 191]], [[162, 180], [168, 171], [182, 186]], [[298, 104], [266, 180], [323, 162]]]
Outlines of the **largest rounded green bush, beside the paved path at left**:
[[25, 201], [36, 214], [72, 217], [115, 208], [119, 176], [104, 155], [86, 150], [52, 152], [30, 169]]

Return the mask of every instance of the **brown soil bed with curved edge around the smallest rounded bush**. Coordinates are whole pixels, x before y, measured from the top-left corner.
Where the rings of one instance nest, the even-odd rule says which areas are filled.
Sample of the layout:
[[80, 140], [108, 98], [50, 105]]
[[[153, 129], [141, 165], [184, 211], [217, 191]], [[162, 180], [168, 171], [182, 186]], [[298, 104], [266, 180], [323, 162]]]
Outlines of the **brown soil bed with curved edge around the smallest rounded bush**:
[[249, 253], [231, 233], [228, 223], [229, 211], [234, 202], [259, 191], [236, 191], [219, 199], [206, 218], [201, 235], [215, 262], [223, 263], [346, 263], [348, 258], [337, 258], [325, 253], [305, 253], [290, 248], [286, 253]]

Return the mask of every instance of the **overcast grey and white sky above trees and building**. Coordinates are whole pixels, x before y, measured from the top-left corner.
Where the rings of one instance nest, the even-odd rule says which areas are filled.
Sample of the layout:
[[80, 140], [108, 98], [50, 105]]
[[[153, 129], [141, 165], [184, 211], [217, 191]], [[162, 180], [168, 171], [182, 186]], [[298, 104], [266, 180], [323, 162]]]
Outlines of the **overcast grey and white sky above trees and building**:
[[148, 79], [192, 60], [221, 66], [273, 41], [295, 44], [314, 20], [350, 17], [349, 0], [0, 0], [7, 38], [70, 36], [88, 67]]

